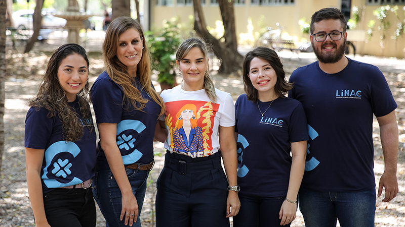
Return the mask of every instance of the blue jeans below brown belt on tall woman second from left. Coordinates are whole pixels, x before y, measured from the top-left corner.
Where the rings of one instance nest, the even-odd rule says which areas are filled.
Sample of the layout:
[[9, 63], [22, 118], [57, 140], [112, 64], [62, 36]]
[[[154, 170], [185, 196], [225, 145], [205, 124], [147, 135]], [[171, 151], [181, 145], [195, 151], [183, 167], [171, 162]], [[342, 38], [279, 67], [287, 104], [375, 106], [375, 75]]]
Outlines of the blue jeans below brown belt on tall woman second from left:
[[[141, 226], [141, 220], [139, 218], [143, 200], [146, 193], [146, 180], [149, 176], [149, 171], [140, 171], [137, 169], [126, 168], [128, 180], [132, 186], [132, 192], [138, 203], [138, 219], [132, 225], [136, 227]], [[96, 168], [96, 176], [93, 178], [93, 195], [100, 207], [101, 213], [105, 218], [105, 226], [118, 227], [129, 226], [125, 225], [125, 218], [121, 221], [119, 216], [121, 215], [121, 191], [118, 184], [115, 181], [111, 171], [108, 169]]]

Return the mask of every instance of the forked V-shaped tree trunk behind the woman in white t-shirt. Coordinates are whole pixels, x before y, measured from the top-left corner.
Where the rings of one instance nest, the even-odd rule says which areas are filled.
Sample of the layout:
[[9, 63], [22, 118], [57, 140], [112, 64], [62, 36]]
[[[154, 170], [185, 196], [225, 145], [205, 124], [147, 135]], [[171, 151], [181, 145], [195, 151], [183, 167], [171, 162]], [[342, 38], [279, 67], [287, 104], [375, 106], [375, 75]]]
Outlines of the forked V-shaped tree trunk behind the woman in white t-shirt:
[[216, 39], [207, 29], [206, 20], [200, 0], [194, 0], [194, 30], [198, 36], [210, 42], [215, 55], [221, 60], [219, 73], [229, 74], [242, 69], [243, 56], [237, 52], [234, 1], [219, 0], [219, 7], [224, 24], [224, 41]]

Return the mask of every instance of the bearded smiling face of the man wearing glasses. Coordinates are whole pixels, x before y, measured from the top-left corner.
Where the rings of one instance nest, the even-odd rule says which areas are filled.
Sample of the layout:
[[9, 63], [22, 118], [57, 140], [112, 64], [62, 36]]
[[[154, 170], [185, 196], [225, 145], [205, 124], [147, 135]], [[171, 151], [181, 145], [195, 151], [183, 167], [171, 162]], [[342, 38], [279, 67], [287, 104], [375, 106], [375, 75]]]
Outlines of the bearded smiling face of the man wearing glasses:
[[[340, 20], [328, 19], [321, 20], [313, 24], [313, 34], [324, 32], [342, 32], [342, 23]], [[319, 62], [325, 64], [332, 64], [339, 62], [345, 54], [347, 33], [343, 33], [342, 38], [337, 41], [333, 41], [330, 36], [327, 36], [323, 42], [317, 42], [313, 35], [309, 36], [312, 48], [315, 52]]]

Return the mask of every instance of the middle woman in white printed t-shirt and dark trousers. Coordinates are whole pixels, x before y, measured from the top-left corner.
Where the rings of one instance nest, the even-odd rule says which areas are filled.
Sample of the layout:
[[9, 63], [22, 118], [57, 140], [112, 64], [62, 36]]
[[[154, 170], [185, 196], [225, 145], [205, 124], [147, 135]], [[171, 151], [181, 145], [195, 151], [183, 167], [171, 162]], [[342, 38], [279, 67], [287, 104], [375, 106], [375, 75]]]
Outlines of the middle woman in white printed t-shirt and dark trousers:
[[229, 226], [240, 207], [233, 99], [214, 87], [202, 40], [185, 40], [176, 63], [183, 84], [160, 94], [167, 106], [160, 120], [169, 135], [157, 181], [156, 226]]

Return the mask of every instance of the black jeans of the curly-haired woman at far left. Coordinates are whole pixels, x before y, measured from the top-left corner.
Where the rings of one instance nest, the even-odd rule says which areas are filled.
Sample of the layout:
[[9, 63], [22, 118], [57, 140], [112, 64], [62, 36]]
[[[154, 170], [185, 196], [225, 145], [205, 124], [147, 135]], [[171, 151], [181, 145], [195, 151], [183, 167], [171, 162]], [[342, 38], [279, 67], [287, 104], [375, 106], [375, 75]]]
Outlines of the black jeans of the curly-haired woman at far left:
[[51, 226], [96, 226], [96, 205], [90, 188], [54, 189], [44, 194], [44, 208]]

